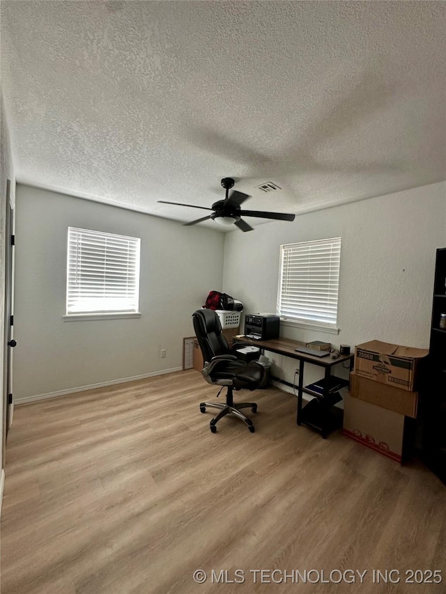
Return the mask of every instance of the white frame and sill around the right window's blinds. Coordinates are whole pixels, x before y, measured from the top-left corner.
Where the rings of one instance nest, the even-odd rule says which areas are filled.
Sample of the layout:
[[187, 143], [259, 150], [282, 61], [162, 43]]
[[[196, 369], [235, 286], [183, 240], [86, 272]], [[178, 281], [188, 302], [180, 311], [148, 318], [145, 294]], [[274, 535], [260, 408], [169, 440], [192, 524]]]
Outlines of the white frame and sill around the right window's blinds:
[[[281, 302], [282, 302], [282, 284], [283, 284], [283, 276], [284, 276], [284, 253], [286, 248], [290, 248], [293, 246], [304, 246], [305, 244], [313, 244], [314, 247], [323, 247], [323, 245], [327, 244], [337, 244], [339, 246], [339, 272], [337, 276], [337, 296], [336, 296], [336, 320], [333, 323], [330, 322], [323, 322], [321, 320], [311, 320], [306, 318], [299, 318], [297, 315], [294, 317], [292, 315], [284, 315], [282, 313]], [[289, 244], [282, 244], [280, 246], [280, 255], [279, 255], [279, 281], [277, 285], [277, 315], [280, 317], [280, 323], [283, 326], [289, 327], [297, 327], [302, 329], [312, 329], [316, 331], [321, 331], [326, 334], [338, 334], [339, 327], [338, 327], [338, 316], [339, 316], [339, 277], [340, 277], [340, 265], [341, 265], [341, 237], [328, 237], [321, 240], [312, 240], [306, 242], [295, 242]]]

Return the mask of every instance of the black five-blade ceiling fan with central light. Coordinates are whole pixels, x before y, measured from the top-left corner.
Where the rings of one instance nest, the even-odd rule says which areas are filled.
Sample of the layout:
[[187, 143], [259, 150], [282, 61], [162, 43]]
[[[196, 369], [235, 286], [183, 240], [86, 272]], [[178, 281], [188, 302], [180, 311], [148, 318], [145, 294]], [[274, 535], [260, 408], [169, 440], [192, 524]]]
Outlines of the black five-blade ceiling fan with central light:
[[256, 217], [258, 219], [276, 219], [278, 221], [294, 221], [295, 214], [284, 214], [282, 212], [266, 212], [264, 210], [242, 210], [240, 206], [247, 198], [250, 198], [247, 194], [237, 192], [234, 190], [229, 196], [229, 190], [234, 185], [232, 178], [223, 178], [222, 186], [226, 189], [226, 198], [213, 203], [211, 208], [205, 206], [195, 206], [193, 204], [182, 204], [180, 202], [168, 202], [166, 200], [158, 200], [163, 204], [176, 204], [178, 206], [190, 206], [190, 208], [201, 208], [201, 210], [213, 210], [212, 214], [190, 223], [183, 223], [185, 226], [195, 225], [201, 223], [201, 221], [207, 221], [213, 219], [220, 225], [229, 226], [235, 224], [242, 231], [252, 231], [252, 226], [248, 225], [246, 221], [243, 221], [241, 217]]

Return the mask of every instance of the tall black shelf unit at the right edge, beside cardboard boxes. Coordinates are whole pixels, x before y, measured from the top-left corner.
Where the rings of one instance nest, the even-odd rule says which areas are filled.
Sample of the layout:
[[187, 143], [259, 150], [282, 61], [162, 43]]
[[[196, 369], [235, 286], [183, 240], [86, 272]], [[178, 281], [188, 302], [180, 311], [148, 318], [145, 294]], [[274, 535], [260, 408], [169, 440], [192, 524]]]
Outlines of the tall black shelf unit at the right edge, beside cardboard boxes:
[[436, 256], [431, 341], [422, 403], [422, 449], [427, 466], [446, 484], [446, 248]]

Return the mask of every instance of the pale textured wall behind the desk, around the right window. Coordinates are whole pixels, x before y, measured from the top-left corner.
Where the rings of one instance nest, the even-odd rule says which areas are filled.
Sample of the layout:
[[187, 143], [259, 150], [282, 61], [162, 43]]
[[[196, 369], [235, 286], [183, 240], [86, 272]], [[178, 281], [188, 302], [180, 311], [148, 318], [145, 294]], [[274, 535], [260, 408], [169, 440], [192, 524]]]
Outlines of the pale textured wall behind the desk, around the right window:
[[[440, 182], [303, 214], [293, 223], [235, 230], [225, 238], [223, 290], [241, 299], [248, 313], [274, 313], [280, 244], [341, 237], [339, 334], [281, 327], [281, 335], [335, 346], [377, 338], [428, 347], [435, 251], [446, 245], [445, 217], [446, 183]], [[283, 365], [289, 373], [296, 367]]]

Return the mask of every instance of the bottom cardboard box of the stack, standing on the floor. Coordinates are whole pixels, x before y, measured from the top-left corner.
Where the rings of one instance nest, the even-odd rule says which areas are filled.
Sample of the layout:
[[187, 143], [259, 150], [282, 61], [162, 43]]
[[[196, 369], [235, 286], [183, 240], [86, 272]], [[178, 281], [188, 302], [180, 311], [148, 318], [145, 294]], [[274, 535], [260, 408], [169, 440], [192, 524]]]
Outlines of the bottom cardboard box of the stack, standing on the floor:
[[402, 464], [410, 456], [413, 421], [403, 414], [344, 396], [343, 434], [358, 444]]

